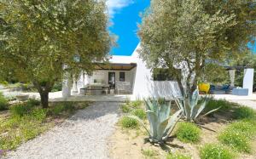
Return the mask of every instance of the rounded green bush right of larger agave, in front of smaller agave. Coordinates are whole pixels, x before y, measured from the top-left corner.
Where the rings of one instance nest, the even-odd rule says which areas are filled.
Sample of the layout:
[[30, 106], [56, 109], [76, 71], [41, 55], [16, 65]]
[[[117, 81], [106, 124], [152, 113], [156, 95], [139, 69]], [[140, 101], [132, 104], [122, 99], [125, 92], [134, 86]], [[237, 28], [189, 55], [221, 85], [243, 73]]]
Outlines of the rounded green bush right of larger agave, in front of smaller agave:
[[183, 142], [195, 143], [200, 139], [201, 129], [192, 122], [180, 122], [175, 134]]

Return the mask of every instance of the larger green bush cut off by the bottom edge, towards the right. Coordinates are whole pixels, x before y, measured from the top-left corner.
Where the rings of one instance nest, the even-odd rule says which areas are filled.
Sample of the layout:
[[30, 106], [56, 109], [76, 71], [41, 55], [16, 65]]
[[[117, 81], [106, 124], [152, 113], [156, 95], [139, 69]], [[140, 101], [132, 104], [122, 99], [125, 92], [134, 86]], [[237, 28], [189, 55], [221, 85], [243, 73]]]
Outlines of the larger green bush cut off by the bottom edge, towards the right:
[[201, 159], [233, 159], [234, 154], [223, 145], [207, 144], [200, 150]]

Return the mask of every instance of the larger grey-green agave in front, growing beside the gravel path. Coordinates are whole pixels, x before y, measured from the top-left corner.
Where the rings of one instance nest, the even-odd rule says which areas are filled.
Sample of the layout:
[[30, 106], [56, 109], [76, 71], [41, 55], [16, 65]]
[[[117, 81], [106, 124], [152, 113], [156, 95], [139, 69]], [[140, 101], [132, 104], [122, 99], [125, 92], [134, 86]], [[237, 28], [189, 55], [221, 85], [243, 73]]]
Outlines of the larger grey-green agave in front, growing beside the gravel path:
[[137, 119], [143, 125], [143, 128], [148, 132], [150, 142], [162, 144], [172, 133], [173, 128], [182, 115], [182, 110], [176, 111], [171, 116], [171, 102], [170, 105], [167, 105], [158, 102], [156, 99], [148, 99], [145, 100], [145, 105], [150, 130], [148, 130], [144, 122], [137, 116], [130, 117]]

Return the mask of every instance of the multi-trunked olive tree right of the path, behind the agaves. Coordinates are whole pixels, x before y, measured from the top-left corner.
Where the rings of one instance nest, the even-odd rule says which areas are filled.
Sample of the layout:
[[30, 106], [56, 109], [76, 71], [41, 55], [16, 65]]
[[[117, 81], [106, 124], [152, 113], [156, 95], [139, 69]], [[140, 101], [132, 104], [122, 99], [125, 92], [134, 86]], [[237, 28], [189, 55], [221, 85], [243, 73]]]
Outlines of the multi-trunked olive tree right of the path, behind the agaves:
[[246, 50], [255, 21], [253, 0], [152, 0], [138, 31], [139, 54], [148, 67], [169, 69], [183, 101], [197, 104], [191, 100], [207, 61]]

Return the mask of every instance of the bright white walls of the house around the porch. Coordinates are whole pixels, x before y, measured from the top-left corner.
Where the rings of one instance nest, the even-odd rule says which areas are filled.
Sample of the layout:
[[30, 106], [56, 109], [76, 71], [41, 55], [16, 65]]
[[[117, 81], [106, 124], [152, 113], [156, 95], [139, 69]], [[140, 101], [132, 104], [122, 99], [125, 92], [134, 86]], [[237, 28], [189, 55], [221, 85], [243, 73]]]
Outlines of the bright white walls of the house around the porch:
[[[83, 75], [79, 80], [73, 85], [73, 94], [76, 94], [76, 87], [80, 92], [80, 88], [84, 88], [84, 85], [91, 83], [101, 82], [102, 84], [108, 84], [108, 72], [115, 72], [115, 81], [119, 82], [119, 72], [125, 72], [125, 82], [130, 82], [132, 95], [136, 99], [143, 99], [148, 97], [162, 97], [162, 98], [172, 98], [172, 96], [179, 96], [180, 91], [177, 86], [177, 82], [165, 81], [157, 82], [153, 80], [152, 73], [139, 58], [137, 49], [140, 45], [137, 46], [134, 53], [131, 56], [116, 56], [109, 60], [110, 64], [119, 64], [119, 65], [128, 65], [136, 64], [131, 70], [96, 70], [92, 76]], [[67, 86], [67, 85], [66, 85]], [[69, 90], [63, 88], [63, 90]], [[67, 93], [63, 94], [63, 97], [67, 97]]]

